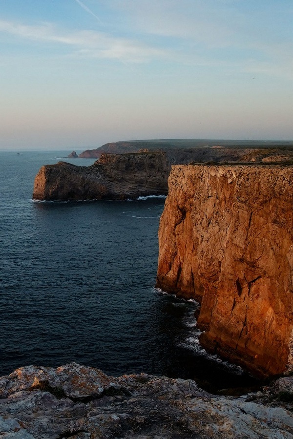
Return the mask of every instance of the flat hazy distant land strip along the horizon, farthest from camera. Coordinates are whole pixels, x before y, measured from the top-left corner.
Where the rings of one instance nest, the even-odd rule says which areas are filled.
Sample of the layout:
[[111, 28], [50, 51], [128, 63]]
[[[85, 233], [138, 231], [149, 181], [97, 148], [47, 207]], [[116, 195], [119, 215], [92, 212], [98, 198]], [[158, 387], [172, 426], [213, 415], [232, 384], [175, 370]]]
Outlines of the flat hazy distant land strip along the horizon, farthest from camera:
[[75, 151], [69, 154], [70, 158], [100, 158], [103, 152], [108, 154], [125, 154], [139, 152], [142, 149], [181, 149], [181, 148], [212, 148], [217, 146], [239, 148], [293, 148], [293, 141], [287, 140], [225, 140], [225, 139], [150, 139], [127, 140], [106, 143], [96, 149], [86, 149], [77, 155]]

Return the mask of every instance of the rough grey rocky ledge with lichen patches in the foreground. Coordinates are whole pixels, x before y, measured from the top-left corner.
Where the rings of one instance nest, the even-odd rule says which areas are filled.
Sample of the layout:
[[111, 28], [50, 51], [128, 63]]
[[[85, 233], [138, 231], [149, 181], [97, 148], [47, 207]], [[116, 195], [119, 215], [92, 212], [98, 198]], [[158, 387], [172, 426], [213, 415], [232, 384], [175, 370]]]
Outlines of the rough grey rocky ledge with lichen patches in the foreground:
[[192, 380], [114, 378], [70, 363], [0, 378], [0, 437], [14, 439], [291, 439], [293, 377], [263, 392], [214, 396]]

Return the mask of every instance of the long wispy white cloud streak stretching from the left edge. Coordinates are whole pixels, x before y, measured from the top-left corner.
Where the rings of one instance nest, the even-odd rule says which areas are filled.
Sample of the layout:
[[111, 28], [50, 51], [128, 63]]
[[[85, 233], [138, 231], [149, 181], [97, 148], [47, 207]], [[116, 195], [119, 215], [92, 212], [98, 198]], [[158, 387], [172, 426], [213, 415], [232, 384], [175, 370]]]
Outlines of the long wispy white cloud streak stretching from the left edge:
[[126, 63], [144, 63], [167, 56], [167, 51], [136, 40], [113, 37], [104, 32], [58, 30], [51, 23], [24, 25], [0, 21], [0, 32], [23, 40], [54, 42], [71, 46], [80, 56], [115, 59]]

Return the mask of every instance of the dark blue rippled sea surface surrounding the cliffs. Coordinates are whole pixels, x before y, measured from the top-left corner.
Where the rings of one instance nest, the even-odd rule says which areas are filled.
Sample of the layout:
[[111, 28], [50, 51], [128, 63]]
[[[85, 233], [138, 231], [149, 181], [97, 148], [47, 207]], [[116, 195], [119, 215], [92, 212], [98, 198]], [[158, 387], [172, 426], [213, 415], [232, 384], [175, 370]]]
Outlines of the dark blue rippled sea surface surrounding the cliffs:
[[164, 198], [35, 202], [39, 168], [69, 151], [0, 151], [0, 376], [76, 361], [119, 376], [257, 385], [198, 343], [197, 304], [154, 288]]

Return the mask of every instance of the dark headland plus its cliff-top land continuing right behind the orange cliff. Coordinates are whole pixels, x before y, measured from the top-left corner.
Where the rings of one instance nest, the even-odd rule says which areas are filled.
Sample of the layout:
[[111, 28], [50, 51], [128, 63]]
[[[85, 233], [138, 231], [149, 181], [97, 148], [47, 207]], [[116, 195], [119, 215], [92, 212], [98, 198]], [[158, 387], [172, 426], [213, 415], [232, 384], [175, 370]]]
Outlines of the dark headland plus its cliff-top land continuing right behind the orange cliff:
[[[118, 145], [119, 144], [119, 145]], [[164, 142], [134, 142], [131, 148], [160, 146], [122, 154], [124, 142], [108, 144], [109, 151], [99, 152], [99, 160], [89, 167], [65, 162], [45, 165], [35, 178], [35, 200], [127, 199], [167, 194], [171, 165], [190, 162], [261, 162], [292, 161], [293, 151], [280, 148], [198, 147], [166, 148]], [[119, 146], [119, 148], [118, 148]], [[165, 146], [165, 148], [163, 148]], [[118, 149], [117, 149], [117, 148]], [[126, 150], [127, 150], [126, 148]], [[74, 152], [74, 151], [73, 151]], [[72, 153], [73, 154], [73, 153]]]

